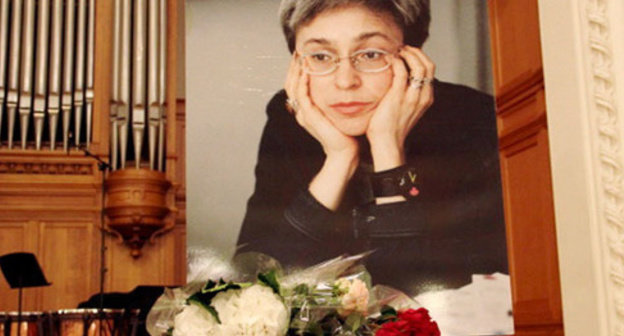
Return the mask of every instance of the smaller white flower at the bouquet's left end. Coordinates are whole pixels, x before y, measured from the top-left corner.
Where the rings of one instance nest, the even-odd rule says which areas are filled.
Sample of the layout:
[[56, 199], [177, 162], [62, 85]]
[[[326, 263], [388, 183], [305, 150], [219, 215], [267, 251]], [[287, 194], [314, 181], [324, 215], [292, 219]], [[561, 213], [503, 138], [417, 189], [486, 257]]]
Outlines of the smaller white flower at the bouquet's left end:
[[206, 309], [191, 304], [174, 319], [173, 336], [213, 336], [217, 335], [217, 321]]

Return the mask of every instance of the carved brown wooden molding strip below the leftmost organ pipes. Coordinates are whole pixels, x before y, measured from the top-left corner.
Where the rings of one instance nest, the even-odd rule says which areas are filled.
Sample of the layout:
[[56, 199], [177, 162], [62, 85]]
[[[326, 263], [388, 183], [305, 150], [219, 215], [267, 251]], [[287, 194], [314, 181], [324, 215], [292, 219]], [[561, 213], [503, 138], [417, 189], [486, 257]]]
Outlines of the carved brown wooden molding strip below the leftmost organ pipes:
[[92, 163], [77, 162], [0, 162], [0, 174], [93, 175]]

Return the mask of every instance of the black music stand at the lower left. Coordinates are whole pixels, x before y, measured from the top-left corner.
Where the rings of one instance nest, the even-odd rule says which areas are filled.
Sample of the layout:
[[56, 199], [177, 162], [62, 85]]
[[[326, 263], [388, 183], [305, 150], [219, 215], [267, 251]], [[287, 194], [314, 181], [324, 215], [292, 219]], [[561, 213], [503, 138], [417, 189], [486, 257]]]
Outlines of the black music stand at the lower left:
[[32, 253], [5, 254], [0, 257], [0, 269], [2, 269], [4, 278], [11, 289], [19, 289], [17, 299], [17, 333], [19, 335], [21, 331], [19, 325], [22, 322], [22, 289], [24, 287], [49, 286], [51, 283], [46, 280], [37, 258]]

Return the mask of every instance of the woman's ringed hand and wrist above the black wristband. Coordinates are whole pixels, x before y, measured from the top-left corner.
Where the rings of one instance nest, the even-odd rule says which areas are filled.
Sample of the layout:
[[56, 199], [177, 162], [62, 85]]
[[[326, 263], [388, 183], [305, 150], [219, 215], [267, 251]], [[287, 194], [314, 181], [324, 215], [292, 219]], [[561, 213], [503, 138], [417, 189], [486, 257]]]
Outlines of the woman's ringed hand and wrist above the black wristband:
[[422, 50], [410, 46], [402, 47], [398, 55], [392, 62], [392, 85], [366, 131], [375, 171], [405, 163], [405, 138], [433, 103], [435, 64]]

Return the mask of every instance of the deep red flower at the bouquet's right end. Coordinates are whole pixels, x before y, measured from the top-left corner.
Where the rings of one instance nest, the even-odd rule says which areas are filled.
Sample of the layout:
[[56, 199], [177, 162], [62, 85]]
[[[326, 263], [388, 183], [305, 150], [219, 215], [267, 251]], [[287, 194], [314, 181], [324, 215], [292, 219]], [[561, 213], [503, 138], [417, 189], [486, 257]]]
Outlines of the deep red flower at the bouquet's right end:
[[384, 323], [375, 336], [440, 336], [440, 329], [427, 309], [408, 309], [399, 312], [395, 321]]

